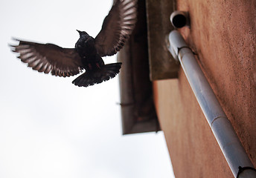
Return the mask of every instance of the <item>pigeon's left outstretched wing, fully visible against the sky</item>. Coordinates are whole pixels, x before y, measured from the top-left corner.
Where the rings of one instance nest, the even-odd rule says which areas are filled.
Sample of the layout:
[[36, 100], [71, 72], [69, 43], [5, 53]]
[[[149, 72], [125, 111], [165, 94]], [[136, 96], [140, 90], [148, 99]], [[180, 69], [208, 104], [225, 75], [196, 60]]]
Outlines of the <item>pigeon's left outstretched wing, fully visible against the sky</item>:
[[15, 39], [18, 45], [10, 45], [18, 58], [32, 67], [33, 70], [49, 73], [54, 76], [74, 76], [83, 70], [80, 56], [74, 48], [63, 48], [55, 44], [39, 44]]

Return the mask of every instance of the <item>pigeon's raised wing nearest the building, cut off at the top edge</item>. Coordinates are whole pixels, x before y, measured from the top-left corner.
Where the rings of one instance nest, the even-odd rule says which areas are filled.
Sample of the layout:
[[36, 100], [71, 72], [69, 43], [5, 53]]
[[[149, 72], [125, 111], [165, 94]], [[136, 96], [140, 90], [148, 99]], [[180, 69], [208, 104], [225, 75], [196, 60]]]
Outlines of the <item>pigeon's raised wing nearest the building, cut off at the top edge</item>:
[[104, 19], [95, 47], [100, 56], [112, 56], [124, 46], [137, 20], [137, 0], [115, 0]]

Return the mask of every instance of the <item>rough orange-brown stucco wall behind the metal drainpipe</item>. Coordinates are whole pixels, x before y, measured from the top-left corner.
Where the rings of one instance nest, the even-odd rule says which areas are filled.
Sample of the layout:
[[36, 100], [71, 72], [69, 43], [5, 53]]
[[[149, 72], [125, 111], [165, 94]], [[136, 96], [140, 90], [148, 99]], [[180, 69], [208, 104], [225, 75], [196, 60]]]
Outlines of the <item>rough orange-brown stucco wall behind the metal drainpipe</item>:
[[[180, 30], [256, 166], [256, 1], [178, 0]], [[161, 129], [176, 177], [233, 177], [182, 69], [154, 82]]]

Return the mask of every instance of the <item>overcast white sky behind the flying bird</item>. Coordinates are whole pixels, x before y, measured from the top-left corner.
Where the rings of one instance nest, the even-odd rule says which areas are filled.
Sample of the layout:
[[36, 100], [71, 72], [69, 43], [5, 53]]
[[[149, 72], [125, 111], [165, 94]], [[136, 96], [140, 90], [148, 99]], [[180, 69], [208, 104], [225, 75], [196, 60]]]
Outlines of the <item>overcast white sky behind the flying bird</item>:
[[[37, 73], [11, 37], [74, 47], [95, 37], [112, 0], [0, 1], [0, 177], [173, 177], [164, 135], [122, 136], [118, 77], [89, 88]], [[106, 63], [114, 57], [104, 58]]]

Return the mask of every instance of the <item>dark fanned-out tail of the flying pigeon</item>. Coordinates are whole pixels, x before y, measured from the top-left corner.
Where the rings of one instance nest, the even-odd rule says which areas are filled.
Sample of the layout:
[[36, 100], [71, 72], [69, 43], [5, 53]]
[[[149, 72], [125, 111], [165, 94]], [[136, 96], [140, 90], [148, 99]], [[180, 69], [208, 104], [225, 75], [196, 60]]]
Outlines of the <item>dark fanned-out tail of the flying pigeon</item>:
[[121, 62], [103, 65], [100, 69], [86, 71], [74, 79], [72, 83], [79, 87], [88, 87], [112, 79], [119, 73]]

